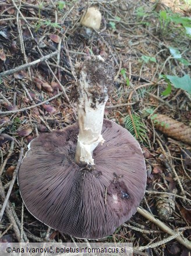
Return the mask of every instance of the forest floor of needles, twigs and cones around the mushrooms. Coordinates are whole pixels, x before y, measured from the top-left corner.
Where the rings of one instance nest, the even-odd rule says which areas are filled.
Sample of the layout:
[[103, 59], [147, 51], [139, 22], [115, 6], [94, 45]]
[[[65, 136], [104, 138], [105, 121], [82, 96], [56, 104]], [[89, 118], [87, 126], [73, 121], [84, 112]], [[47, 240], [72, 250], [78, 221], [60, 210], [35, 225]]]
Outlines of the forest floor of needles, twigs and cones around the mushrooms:
[[[88, 4], [102, 14], [90, 37], [79, 25]], [[136, 213], [100, 241], [132, 242], [135, 255], [189, 255], [177, 238], [191, 238], [190, 1], [0, 0], [0, 13], [0, 241], [83, 241], [35, 219], [15, 178], [21, 148], [76, 122], [75, 63], [100, 54], [115, 65], [105, 118], [146, 158], [140, 206], [176, 232]]]

